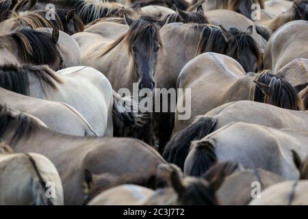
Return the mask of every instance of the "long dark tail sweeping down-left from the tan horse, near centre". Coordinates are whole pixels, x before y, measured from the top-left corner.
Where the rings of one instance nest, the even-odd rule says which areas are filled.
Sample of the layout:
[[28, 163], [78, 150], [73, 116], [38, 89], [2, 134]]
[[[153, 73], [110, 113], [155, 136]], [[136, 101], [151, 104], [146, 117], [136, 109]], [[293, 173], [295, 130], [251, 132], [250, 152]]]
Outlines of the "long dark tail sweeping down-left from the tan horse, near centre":
[[198, 116], [186, 129], [179, 131], [166, 144], [163, 157], [167, 162], [183, 169], [192, 140], [201, 140], [213, 131], [217, 118]]

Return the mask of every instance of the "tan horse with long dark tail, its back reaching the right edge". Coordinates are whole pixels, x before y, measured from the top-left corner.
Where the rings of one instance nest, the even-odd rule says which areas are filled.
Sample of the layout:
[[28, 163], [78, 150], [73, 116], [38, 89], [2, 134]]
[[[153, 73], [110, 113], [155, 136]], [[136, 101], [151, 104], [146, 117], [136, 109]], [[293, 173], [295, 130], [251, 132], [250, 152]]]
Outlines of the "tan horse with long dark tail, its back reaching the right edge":
[[226, 103], [196, 117], [191, 125], [176, 133], [166, 145], [163, 157], [167, 162], [183, 168], [192, 140], [201, 140], [229, 123], [253, 123], [275, 129], [308, 131], [307, 113], [255, 101]]

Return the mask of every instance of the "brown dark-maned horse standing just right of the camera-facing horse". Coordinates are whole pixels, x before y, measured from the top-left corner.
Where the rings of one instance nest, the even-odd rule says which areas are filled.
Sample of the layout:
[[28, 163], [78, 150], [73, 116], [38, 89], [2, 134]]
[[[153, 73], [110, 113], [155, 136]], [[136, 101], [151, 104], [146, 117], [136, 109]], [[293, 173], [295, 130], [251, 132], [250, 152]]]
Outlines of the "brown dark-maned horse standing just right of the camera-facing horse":
[[[213, 51], [231, 55], [247, 70], [255, 71], [261, 66], [261, 55], [255, 41], [251, 38], [251, 27], [245, 32], [207, 24], [170, 23], [160, 29], [164, 53], [157, 57], [155, 81], [157, 88], [177, 88], [177, 78], [182, 68], [196, 55]], [[211, 39], [211, 40], [209, 40]], [[216, 41], [219, 40], [219, 43]], [[181, 47], [179, 47], [181, 45]], [[177, 57], [177, 58], [175, 58]], [[249, 64], [248, 64], [249, 63]], [[168, 74], [166, 74], [168, 73]], [[170, 139], [173, 127], [174, 110], [169, 102], [167, 113], [155, 113], [159, 126], [159, 148], [162, 152]], [[174, 107], [174, 106], [173, 106]]]

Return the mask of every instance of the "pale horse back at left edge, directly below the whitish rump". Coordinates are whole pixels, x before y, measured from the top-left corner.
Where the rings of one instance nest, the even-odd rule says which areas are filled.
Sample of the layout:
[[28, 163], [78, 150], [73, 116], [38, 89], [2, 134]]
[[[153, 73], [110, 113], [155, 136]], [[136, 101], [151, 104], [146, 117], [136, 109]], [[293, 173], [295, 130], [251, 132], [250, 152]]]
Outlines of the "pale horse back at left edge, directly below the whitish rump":
[[84, 116], [65, 103], [34, 99], [0, 88], [0, 103], [33, 115], [49, 129], [71, 136], [97, 136]]

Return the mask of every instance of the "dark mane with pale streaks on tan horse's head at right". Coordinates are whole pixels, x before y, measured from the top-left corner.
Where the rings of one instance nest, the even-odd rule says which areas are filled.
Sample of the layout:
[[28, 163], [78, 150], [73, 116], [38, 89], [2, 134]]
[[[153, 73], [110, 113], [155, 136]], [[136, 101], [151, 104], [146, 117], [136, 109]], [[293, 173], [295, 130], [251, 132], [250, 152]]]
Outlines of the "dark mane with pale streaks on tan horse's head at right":
[[[285, 79], [273, 75], [269, 70], [264, 70], [263, 73], [257, 76], [257, 81], [269, 86], [270, 89], [267, 98], [272, 105], [288, 110], [303, 110], [303, 103], [298, 97], [298, 94], [296, 94], [292, 85], [285, 81]], [[258, 102], [266, 101], [266, 96], [257, 86], [255, 87], [253, 98], [254, 101]]]

